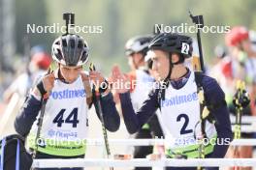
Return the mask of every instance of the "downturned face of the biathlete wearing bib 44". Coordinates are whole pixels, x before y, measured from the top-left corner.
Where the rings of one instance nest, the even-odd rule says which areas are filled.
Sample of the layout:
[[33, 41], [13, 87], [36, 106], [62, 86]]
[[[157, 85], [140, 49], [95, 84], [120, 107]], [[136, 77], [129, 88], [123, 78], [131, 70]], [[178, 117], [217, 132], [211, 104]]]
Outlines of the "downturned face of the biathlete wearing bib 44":
[[82, 70], [81, 66], [79, 67], [68, 67], [64, 65], [59, 65], [61, 75], [68, 83], [73, 83], [80, 75]]

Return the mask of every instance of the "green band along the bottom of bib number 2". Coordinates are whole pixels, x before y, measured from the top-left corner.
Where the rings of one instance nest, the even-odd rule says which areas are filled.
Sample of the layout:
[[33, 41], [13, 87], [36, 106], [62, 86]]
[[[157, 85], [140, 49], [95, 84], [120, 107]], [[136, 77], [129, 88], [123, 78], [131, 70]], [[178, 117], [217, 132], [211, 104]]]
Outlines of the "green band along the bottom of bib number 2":
[[[205, 155], [208, 155], [213, 152], [214, 145], [212, 143], [216, 142], [216, 136], [208, 139], [208, 145], [204, 147]], [[166, 149], [166, 156], [170, 156], [171, 158], [176, 157], [177, 155], [187, 156], [188, 158], [198, 158], [199, 157], [199, 144], [189, 145], [185, 147], [180, 147], [176, 149]]]

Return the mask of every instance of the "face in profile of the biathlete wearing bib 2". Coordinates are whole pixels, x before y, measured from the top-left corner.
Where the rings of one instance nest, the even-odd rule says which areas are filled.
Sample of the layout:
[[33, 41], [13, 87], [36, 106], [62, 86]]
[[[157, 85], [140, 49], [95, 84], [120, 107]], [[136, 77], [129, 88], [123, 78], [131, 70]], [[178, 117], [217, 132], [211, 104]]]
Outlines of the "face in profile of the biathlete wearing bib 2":
[[156, 72], [158, 79], [163, 80], [169, 72], [169, 58], [166, 52], [162, 50], [151, 50], [151, 59], [153, 60], [152, 70]]

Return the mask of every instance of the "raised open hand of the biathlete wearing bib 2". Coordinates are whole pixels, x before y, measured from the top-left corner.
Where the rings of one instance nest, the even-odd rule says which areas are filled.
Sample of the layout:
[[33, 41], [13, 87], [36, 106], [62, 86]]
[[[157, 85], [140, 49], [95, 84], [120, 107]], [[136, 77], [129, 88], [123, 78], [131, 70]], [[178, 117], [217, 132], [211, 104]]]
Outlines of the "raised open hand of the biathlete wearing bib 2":
[[129, 92], [129, 78], [123, 74], [118, 66], [112, 68], [112, 88], [119, 94]]

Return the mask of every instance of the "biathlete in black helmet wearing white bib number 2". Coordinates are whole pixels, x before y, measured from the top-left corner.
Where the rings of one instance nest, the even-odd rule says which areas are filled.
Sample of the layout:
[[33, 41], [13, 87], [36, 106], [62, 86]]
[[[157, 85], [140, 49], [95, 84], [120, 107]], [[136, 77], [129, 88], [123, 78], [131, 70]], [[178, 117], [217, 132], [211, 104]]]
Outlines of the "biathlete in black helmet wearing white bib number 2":
[[[204, 154], [205, 157], [224, 157], [232, 140], [225, 95], [213, 78], [205, 74], [199, 75], [185, 67], [184, 60], [192, 54], [192, 39], [179, 34], [162, 33], [154, 37], [148, 48], [148, 55], [153, 60], [152, 69], [159, 78], [158, 86], [154, 86], [142, 107], [136, 112], [129, 90], [125, 88], [117, 90], [127, 130], [130, 133], [138, 131], [159, 108], [161, 111], [159, 117], [163, 121], [162, 128], [165, 128], [164, 135], [168, 139], [165, 145], [166, 156], [199, 157], [200, 143], [197, 139], [202, 135], [202, 128], [199, 124], [201, 105], [198, 83], [201, 83], [209, 110], [203, 129], [208, 139], [204, 142]], [[120, 71], [114, 72], [112, 78], [116, 83], [128, 81]], [[167, 167], [167, 169], [197, 168]]]

